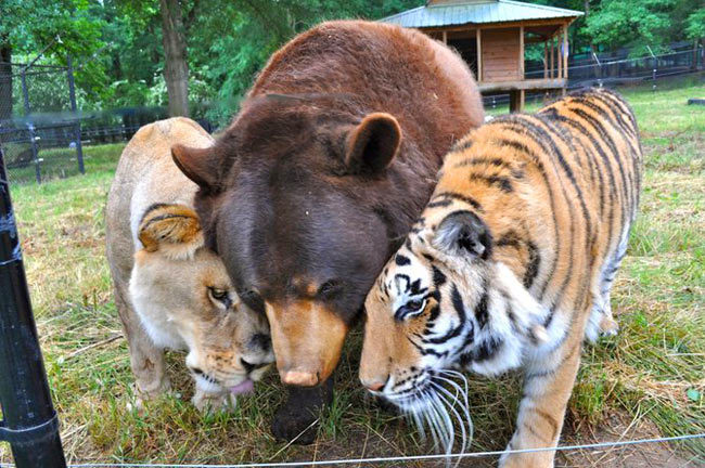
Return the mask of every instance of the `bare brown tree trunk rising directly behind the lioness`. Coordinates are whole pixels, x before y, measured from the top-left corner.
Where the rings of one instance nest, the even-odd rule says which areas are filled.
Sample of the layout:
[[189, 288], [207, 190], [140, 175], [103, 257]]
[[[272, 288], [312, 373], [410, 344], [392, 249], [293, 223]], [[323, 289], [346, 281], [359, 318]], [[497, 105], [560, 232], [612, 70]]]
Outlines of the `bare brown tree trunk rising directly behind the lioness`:
[[159, 0], [164, 79], [169, 94], [169, 116], [189, 115], [189, 65], [179, 0]]

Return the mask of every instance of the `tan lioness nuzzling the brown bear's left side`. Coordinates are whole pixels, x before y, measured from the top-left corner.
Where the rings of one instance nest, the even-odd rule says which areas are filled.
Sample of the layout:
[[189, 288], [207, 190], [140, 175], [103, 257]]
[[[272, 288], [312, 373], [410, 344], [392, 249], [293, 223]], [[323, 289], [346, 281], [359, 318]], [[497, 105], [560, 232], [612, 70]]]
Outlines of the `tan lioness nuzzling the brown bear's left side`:
[[197, 185], [171, 160], [176, 144], [209, 146], [188, 118], [142, 127], [125, 147], [105, 210], [115, 304], [134, 374], [137, 403], [170, 390], [164, 350], [187, 350], [198, 410], [222, 408], [273, 362], [264, 315], [245, 306], [220, 258], [204, 244]]

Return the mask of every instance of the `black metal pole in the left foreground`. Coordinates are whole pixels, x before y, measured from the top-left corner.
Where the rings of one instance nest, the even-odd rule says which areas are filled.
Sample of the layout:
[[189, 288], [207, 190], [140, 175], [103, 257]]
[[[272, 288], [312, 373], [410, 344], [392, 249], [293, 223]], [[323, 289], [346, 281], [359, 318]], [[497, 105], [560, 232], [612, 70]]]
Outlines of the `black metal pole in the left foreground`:
[[17, 468], [64, 468], [0, 150], [0, 441]]

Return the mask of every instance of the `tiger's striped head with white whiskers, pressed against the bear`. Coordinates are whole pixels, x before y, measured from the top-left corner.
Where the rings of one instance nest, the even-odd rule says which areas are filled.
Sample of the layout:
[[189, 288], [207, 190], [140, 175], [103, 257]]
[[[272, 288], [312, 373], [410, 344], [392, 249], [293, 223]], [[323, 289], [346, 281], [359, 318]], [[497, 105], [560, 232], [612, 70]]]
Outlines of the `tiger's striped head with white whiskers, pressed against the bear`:
[[411, 412], [448, 369], [502, 373], [546, 336], [543, 308], [498, 260], [485, 221], [459, 200], [432, 205], [366, 301], [360, 380]]

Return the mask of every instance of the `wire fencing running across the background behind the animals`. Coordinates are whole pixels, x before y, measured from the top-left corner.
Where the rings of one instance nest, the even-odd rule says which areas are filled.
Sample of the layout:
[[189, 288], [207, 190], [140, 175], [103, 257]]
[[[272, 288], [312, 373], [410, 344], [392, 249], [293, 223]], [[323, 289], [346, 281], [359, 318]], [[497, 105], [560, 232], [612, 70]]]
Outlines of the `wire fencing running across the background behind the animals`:
[[[651, 51], [651, 49], [649, 49]], [[568, 89], [616, 87], [650, 80], [654, 90], [663, 78], [701, 73], [705, 51], [693, 43], [671, 44], [667, 53], [630, 57], [627, 49], [569, 57]], [[84, 146], [128, 141], [137, 130], [167, 117], [165, 107], [133, 106], [103, 112], [77, 109], [70, 57], [66, 66], [0, 62], [0, 147], [11, 182], [41, 182], [82, 173]], [[541, 62], [527, 62], [525, 77], [542, 78]], [[527, 93], [540, 102], [547, 93]], [[484, 98], [487, 108], [509, 103], [509, 94]], [[80, 112], [79, 112], [80, 110]], [[198, 122], [210, 132], [207, 120]]]

